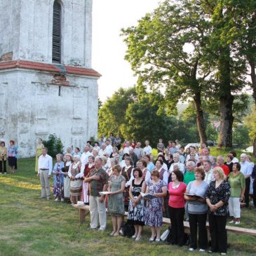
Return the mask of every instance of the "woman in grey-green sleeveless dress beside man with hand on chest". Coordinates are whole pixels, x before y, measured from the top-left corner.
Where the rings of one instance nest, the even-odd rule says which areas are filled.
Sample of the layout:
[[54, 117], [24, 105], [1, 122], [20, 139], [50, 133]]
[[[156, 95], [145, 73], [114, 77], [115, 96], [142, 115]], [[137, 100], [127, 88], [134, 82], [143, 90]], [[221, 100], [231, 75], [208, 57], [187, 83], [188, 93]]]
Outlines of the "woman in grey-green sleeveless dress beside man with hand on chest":
[[111, 177], [109, 178], [107, 209], [112, 215], [113, 231], [110, 236], [119, 236], [119, 231], [123, 222], [124, 205], [123, 191], [126, 187], [126, 179], [121, 175], [121, 166], [114, 166]]

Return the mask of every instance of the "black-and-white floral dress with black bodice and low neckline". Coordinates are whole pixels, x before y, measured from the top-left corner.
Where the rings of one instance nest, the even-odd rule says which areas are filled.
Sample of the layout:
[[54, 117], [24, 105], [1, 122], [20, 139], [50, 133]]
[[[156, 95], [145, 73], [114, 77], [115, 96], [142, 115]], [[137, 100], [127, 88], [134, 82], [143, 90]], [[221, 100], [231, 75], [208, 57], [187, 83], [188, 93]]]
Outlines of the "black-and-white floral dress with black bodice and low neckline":
[[[140, 192], [142, 191], [142, 182], [140, 184], [135, 184], [133, 180], [132, 186], [133, 186], [133, 198], [137, 199], [138, 196], [140, 196]], [[140, 202], [137, 203], [137, 205], [133, 208], [133, 201], [130, 200], [129, 202], [129, 209], [128, 209], [128, 220], [133, 220], [133, 224], [135, 225], [144, 225], [144, 199], [140, 199]]]

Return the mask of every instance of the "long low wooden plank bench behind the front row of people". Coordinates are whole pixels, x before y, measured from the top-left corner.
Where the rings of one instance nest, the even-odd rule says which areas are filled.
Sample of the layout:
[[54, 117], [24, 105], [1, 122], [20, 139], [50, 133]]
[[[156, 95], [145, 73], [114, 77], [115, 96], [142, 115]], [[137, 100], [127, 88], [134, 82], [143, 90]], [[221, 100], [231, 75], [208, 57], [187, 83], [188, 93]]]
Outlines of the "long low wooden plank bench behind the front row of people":
[[[89, 206], [80, 206], [80, 205], [73, 205], [74, 208], [79, 209], [79, 222], [83, 223], [85, 221], [86, 215], [90, 213]], [[106, 209], [107, 210], [107, 209]], [[128, 213], [126, 212], [125, 215], [127, 216]], [[163, 217], [163, 223], [170, 224], [170, 219]], [[209, 230], [209, 223], [206, 222], [206, 228], [208, 229], [208, 234], [210, 233]], [[256, 230], [255, 229], [245, 229], [243, 227], [233, 227], [233, 226], [226, 226], [227, 231], [236, 233], [236, 234], [245, 234], [245, 235], [251, 235], [256, 236]], [[189, 222], [184, 222], [184, 231], [186, 233], [189, 233], [190, 227]]]

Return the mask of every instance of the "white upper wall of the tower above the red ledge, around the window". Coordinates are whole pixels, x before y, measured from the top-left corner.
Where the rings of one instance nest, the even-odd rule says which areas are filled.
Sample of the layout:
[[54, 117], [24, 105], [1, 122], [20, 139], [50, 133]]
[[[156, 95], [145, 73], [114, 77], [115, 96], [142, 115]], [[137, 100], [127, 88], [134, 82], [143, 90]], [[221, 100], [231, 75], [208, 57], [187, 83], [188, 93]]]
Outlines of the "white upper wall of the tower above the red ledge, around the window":
[[[52, 62], [54, 0], [0, 1], [0, 58]], [[62, 64], [91, 67], [92, 0], [62, 0]], [[3, 35], [3, 36], [2, 36]]]

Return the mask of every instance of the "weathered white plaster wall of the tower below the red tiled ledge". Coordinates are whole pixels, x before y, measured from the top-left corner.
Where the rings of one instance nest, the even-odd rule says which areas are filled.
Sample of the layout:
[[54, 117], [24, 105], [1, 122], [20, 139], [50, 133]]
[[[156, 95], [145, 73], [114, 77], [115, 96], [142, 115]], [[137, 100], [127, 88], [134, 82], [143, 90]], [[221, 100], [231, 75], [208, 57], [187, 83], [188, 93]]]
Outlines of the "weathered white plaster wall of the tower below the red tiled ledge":
[[97, 79], [67, 75], [69, 86], [52, 74], [0, 72], [0, 140], [14, 139], [20, 156], [35, 154], [36, 139], [55, 133], [65, 147], [83, 147], [97, 133]]

